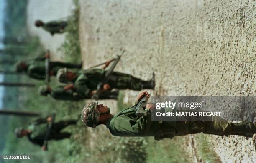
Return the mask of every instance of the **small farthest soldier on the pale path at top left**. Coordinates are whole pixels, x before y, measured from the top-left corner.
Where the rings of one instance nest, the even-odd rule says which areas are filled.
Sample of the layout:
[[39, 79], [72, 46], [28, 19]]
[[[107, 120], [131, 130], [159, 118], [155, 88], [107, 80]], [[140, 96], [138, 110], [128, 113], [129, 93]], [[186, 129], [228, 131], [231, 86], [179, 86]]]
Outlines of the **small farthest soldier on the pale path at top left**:
[[55, 33], [63, 33], [65, 32], [65, 28], [67, 27], [66, 21], [51, 21], [44, 23], [41, 20], [36, 20], [35, 22], [36, 27], [42, 27], [44, 30], [51, 33], [51, 35], [54, 35]]

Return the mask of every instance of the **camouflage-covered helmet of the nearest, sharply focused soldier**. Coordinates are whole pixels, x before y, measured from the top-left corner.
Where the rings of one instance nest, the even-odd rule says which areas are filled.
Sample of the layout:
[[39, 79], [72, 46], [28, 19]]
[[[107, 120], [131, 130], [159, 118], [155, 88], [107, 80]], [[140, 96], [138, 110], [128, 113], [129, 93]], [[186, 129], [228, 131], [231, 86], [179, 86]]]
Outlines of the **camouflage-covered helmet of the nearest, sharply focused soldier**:
[[95, 128], [99, 124], [100, 112], [96, 109], [98, 102], [90, 102], [82, 110], [82, 121], [87, 127]]

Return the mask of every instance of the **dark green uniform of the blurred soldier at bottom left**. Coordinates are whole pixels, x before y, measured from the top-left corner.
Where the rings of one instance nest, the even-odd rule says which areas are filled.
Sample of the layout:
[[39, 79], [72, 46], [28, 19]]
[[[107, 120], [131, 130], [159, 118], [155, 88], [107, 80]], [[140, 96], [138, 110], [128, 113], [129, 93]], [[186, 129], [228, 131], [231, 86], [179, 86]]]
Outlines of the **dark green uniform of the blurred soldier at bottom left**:
[[[76, 120], [67, 120], [53, 123], [48, 140], [61, 140], [64, 138], [69, 138], [71, 133], [60, 131], [68, 125], [76, 124], [76, 122]], [[43, 146], [44, 138], [48, 130], [48, 124], [49, 123], [47, 122], [46, 118], [40, 118], [30, 123], [28, 130], [31, 130], [31, 133], [27, 135], [28, 140], [32, 143], [38, 144], [39, 146]]]

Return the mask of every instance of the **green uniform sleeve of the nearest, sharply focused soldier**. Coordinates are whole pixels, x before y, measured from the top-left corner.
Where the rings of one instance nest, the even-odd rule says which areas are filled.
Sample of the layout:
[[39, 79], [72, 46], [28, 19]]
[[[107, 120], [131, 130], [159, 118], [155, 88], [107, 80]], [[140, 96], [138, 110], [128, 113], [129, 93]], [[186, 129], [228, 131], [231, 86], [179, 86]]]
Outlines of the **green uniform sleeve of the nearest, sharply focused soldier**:
[[118, 116], [113, 127], [116, 133], [120, 133], [120, 136], [131, 135], [131, 136], [143, 136], [146, 133], [146, 118], [140, 117], [138, 119], [131, 119], [128, 116]]

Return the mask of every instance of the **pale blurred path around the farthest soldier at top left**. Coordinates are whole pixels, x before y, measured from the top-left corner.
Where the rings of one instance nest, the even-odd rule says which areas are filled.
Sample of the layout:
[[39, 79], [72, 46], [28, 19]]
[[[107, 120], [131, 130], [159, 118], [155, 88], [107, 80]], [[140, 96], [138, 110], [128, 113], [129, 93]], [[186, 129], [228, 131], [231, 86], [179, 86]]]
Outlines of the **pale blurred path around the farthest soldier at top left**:
[[55, 34], [51, 36], [48, 32], [34, 26], [35, 20], [48, 22], [59, 20], [71, 14], [73, 5], [72, 0], [29, 0], [27, 7], [27, 26], [32, 35], [38, 36], [45, 49], [50, 49], [53, 60], [62, 60], [62, 54], [58, 51], [65, 36]]

